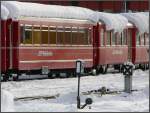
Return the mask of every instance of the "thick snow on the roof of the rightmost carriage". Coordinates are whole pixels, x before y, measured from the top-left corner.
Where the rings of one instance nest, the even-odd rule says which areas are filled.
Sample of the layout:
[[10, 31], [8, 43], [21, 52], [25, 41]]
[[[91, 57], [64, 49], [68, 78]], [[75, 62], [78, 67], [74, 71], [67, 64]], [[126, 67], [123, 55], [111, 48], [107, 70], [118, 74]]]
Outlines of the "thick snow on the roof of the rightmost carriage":
[[133, 23], [139, 30], [140, 34], [149, 33], [149, 15], [148, 13], [121, 13], [128, 21]]

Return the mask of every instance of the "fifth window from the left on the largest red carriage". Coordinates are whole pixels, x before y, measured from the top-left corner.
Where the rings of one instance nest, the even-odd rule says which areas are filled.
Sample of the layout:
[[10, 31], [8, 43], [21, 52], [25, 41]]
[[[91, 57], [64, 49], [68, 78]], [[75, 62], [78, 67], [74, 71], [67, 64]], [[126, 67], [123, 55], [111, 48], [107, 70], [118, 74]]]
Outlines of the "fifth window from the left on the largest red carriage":
[[64, 28], [62, 26], [57, 27], [57, 44], [64, 44]]

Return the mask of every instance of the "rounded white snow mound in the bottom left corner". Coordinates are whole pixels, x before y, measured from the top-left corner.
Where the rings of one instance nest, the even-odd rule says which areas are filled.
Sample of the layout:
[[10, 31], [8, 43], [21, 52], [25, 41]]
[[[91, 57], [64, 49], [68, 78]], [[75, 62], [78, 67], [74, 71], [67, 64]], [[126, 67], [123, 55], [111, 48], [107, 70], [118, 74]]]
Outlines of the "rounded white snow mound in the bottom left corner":
[[1, 90], [1, 112], [13, 112], [13, 111], [14, 111], [13, 95], [6, 90]]

